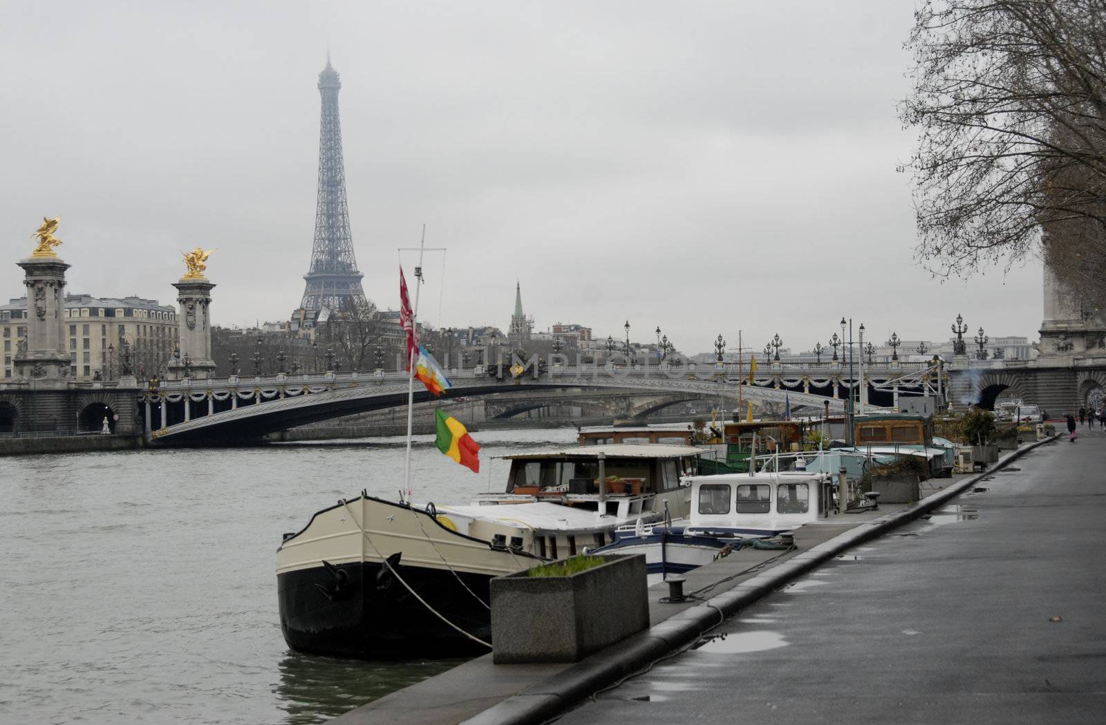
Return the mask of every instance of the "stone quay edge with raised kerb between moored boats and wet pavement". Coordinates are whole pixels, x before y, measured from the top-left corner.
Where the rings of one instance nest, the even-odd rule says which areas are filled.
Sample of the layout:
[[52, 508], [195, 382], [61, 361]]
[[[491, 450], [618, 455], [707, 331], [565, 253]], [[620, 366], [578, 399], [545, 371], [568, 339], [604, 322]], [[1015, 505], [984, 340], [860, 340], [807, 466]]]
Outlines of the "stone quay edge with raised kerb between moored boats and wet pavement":
[[[1025, 449], [1022, 446], [1019, 453]], [[931, 486], [926, 493], [964, 484], [972, 477], [961, 475], [926, 482]], [[782, 586], [781, 582], [797, 577], [825, 558], [825, 553], [820, 555], [812, 549], [848, 546], [847, 542], [839, 543], [842, 535], [876, 535], [886, 527], [880, 525], [881, 521], [894, 518], [896, 511], [907, 508], [884, 505], [878, 512], [846, 514], [805, 526], [796, 532], [796, 550], [783, 556], [780, 551], [735, 551], [720, 561], [688, 572], [685, 591], [712, 586], [705, 596], [714, 597], [711, 601], [720, 605], [729, 599], [729, 606], [723, 608], [730, 611], [740, 607], [742, 600], [763, 596], [766, 587]], [[864, 528], [872, 530], [864, 532]], [[773, 580], [766, 585], [757, 584], [765, 577]], [[332, 722], [336, 725], [380, 722], [389, 725], [452, 725], [470, 718], [473, 723], [541, 722], [551, 711], [563, 710], [566, 698], [573, 694], [593, 692], [595, 687], [591, 687], [589, 683], [597, 679], [605, 676], [613, 681], [632, 673], [639, 666], [635, 662], [641, 659], [643, 651], [656, 652], [659, 656], [680, 647], [689, 632], [695, 637], [719, 621], [717, 610], [699, 602], [659, 602], [667, 593], [665, 585], [650, 588], [651, 628], [632, 638], [637, 639], [636, 642], [627, 640], [575, 664], [494, 665], [491, 655], [484, 655], [357, 707]], [[611, 676], [612, 673], [614, 676]]]

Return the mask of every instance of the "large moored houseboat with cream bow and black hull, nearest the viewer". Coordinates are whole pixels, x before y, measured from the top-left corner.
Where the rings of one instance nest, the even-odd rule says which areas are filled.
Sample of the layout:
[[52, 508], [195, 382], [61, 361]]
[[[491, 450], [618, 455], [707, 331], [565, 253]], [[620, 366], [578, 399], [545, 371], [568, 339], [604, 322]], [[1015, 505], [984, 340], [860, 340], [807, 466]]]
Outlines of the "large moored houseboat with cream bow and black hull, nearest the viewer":
[[340, 501], [276, 551], [281, 629], [301, 652], [366, 659], [487, 651], [489, 581], [690, 513], [701, 451], [582, 445], [520, 453], [470, 505]]

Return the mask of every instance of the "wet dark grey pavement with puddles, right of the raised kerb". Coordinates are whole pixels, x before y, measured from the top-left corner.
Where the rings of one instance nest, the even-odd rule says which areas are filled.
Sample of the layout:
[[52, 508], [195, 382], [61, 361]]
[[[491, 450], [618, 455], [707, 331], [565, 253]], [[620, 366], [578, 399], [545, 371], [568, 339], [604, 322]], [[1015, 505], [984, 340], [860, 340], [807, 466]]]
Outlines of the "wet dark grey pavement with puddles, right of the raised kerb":
[[1081, 429], [557, 722], [1102, 723], [1104, 545]]

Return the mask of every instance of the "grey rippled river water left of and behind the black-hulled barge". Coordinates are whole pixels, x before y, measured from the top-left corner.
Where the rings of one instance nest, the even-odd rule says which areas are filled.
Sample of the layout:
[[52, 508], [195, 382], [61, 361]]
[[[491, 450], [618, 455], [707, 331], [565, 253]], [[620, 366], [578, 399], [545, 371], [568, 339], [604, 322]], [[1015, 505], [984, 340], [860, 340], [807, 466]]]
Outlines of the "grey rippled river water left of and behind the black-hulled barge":
[[[417, 438], [414, 500], [502, 491], [493, 456], [572, 429], [476, 435], [472, 474]], [[400, 439], [0, 459], [0, 722], [319, 723], [458, 661], [288, 649], [281, 534], [366, 488], [396, 498]]]

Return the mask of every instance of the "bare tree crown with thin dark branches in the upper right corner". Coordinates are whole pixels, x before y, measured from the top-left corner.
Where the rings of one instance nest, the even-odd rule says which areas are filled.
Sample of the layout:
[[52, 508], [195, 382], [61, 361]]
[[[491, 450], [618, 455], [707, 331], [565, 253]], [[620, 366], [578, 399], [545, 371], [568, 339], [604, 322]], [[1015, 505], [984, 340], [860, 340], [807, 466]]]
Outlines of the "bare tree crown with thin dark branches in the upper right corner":
[[1100, 244], [1106, 0], [926, 0], [907, 46], [919, 256], [940, 274], [1009, 265], [1042, 224]]

